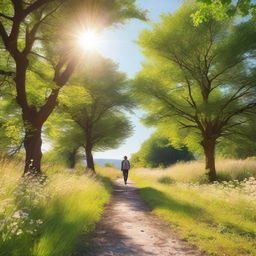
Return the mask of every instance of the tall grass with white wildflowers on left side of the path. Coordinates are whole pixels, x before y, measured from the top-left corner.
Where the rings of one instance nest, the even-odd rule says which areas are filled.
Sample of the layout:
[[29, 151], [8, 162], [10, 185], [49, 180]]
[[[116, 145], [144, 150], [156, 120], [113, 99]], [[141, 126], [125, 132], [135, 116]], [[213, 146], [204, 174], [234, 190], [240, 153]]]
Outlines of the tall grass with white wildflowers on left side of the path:
[[70, 255], [81, 234], [89, 234], [111, 195], [117, 175], [102, 177], [47, 166], [47, 181], [21, 179], [22, 163], [0, 162], [0, 255]]

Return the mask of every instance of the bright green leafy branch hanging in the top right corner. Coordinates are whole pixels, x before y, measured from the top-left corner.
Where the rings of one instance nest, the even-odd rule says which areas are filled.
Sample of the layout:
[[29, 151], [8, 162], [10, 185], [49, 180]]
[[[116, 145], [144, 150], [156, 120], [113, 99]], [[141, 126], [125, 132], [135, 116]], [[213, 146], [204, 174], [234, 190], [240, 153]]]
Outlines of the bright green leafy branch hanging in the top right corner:
[[197, 0], [197, 2], [200, 3], [200, 9], [192, 15], [196, 25], [211, 18], [223, 20], [236, 14], [242, 17], [256, 17], [254, 0]]

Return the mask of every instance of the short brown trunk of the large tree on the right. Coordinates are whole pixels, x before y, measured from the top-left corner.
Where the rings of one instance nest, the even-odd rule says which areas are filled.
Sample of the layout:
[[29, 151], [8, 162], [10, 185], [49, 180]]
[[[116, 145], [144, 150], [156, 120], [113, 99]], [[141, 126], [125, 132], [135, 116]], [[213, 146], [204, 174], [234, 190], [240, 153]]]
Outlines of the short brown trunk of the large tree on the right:
[[205, 170], [207, 171], [209, 181], [215, 181], [217, 179], [217, 173], [215, 168], [215, 146], [216, 140], [204, 139], [202, 142], [205, 154]]

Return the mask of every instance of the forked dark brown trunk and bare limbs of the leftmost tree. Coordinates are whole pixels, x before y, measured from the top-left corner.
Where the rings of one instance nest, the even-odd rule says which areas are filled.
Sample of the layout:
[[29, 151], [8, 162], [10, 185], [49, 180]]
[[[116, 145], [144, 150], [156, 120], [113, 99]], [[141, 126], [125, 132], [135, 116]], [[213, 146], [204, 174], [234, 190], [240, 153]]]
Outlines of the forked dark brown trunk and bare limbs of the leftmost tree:
[[[22, 118], [25, 126], [25, 141], [24, 147], [26, 151], [26, 159], [25, 159], [25, 168], [24, 173], [31, 173], [33, 175], [38, 175], [41, 173], [41, 130], [43, 123], [47, 120], [49, 115], [52, 113], [53, 109], [57, 105], [57, 97], [59, 94], [59, 90], [63, 87], [70, 76], [74, 72], [77, 59], [72, 58], [68, 63], [60, 59], [59, 63], [55, 67], [53, 81], [57, 85], [57, 88], [52, 89], [51, 94], [46, 99], [46, 102], [43, 106], [41, 106], [40, 110], [37, 111], [35, 106], [31, 106], [27, 100], [27, 92], [26, 92], [26, 72], [29, 66], [28, 55], [33, 46], [34, 39], [36, 38], [36, 32], [39, 28], [39, 25], [34, 26], [34, 32], [29, 33], [29, 40], [26, 40], [25, 48], [22, 52], [18, 50], [17, 38], [19, 35], [19, 27], [22, 21], [22, 17], [18, 17], [19, 14], [22, 16], [22, 10], [16, 10], [14, 17], [16, 20], [13, 25], [15, 29], [12, 29], [10, 36], [6, 34], [4, 37], [4, 43], [6, 46], [6, 50], [10, 52], [12, 57], [16, 63], [16, 76], [15, 76], [15, 84], [16, 84], [16, 92], [17, 92], [17, 103], [22, 109]], [[24, 16], [25, 17], [25, 16]], [[17, 20], [18, 19], [18, 20]], [[32, 29], [32, 30], [33, 30]], [[2, 32], [2, 31], [1, 31]], [[5, 33], [5, 32], [4, 32]], [[14, 34], [13, 34], [14, 33]], [[27, 38], [26, 38], [27, 39]], [[30, 126], [30, 127], [28, 127]]]

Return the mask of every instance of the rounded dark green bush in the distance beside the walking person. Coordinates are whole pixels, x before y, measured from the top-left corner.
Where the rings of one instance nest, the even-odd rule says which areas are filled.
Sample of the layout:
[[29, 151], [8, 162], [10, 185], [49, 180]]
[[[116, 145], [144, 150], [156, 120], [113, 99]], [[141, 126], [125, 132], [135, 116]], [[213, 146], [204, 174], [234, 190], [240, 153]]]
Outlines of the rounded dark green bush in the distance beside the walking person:
[[135, 167], [168, 167], [178, 161], [194, 160], [193, 154], [186, 147], [175, 149], [170, 145], [168, 138], [161, 134], [153, 134], [146, 140], [139, 152], [131, 157], [131, 163]]

